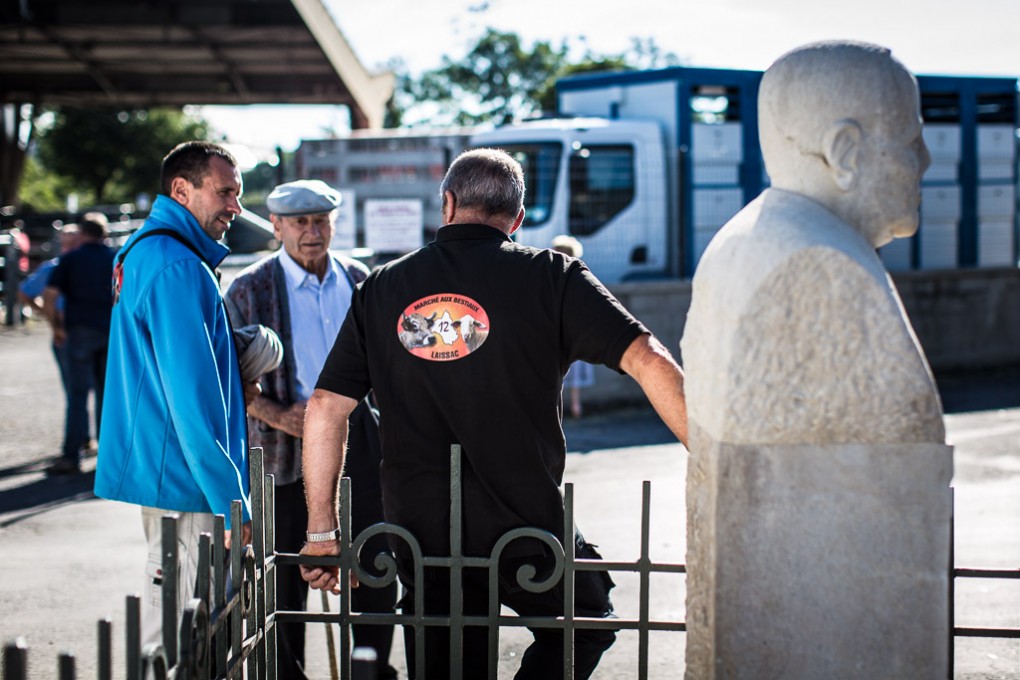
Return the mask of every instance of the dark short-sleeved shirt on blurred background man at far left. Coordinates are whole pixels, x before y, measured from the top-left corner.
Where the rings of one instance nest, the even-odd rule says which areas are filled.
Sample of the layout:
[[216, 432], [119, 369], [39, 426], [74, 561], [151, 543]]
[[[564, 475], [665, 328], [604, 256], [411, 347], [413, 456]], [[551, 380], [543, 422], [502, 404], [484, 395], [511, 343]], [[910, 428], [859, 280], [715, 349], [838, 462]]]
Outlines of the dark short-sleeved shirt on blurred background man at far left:
[[101, 243], [85, 243], [60, 256], [47, 285], [64, 297], [64, 326], [110, 330], [113, 313], [113, 250]]

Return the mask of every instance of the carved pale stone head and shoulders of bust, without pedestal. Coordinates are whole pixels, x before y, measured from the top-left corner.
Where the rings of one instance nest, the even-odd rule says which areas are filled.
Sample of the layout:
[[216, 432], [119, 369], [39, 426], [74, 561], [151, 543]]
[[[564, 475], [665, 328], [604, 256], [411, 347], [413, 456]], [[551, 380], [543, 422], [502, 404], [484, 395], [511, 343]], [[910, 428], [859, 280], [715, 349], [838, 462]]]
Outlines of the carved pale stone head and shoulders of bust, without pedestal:
[[759, 94], [772, 187], [699, 264], [681, 343], [692, 450], [942, 442], [930, 369], [875, 249], [917, 230], [917, 85], [888, 50], [818, 43]]

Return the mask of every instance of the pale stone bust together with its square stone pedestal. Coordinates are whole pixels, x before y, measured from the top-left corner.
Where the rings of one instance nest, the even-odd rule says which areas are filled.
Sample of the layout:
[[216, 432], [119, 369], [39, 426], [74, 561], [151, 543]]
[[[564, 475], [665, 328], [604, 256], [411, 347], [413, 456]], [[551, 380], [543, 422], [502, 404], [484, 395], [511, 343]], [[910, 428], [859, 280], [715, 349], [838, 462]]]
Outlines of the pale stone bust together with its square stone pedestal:
[[772, 187], [709, 244], [680, 343], [686, 677], [945, 678], [953, 456], [875, 253], [918, 226], [917, 85], [819, 43], [758, 109]]

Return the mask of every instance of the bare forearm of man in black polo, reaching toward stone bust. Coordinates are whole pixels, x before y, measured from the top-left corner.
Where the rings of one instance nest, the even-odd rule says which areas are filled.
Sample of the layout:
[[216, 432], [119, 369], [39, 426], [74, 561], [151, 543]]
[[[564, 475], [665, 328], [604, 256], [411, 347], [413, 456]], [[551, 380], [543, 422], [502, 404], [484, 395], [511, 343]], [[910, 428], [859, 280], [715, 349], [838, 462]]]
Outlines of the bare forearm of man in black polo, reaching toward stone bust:
[[620, 368], [641, 385], [656, 413], [676, 438], [687, 446], [687, 404], [683, 396], [683, 370], [662, 343], [645, 333], [630, 344]]

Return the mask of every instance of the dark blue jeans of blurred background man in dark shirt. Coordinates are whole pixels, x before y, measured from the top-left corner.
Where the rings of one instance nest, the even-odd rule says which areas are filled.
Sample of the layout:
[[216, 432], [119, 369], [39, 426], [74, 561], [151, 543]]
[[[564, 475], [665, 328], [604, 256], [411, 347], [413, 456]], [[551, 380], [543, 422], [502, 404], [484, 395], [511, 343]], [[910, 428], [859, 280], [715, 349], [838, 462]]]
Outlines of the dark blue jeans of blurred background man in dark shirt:
[[109, 332], [89, 326], [67, 329], [67, 414], [64, 418], [63, 457], [79, 461], [79, 450], [89, 436], [89, 389], [96, 390], [96, 437], [103, 411], [106, 348]]

